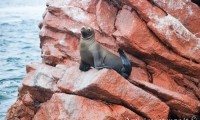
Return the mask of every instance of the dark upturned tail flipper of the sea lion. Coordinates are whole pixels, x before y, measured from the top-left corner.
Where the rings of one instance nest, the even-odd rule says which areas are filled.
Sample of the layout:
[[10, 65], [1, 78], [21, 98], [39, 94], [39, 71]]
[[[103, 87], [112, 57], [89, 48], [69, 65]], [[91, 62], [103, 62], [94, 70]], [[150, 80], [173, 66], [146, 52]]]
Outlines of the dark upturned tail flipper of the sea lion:
[[120, 55], [120, 58], [121, 58], [121, 61], [123, 64], [123, 69], [125, 69], [125, 70], [123, 70], [123, 72], [125, 72], [129, 76], [132, 71], [131, 63], [120, 48], [118, 49], [118, 52], [119, 52], [119, 55]]

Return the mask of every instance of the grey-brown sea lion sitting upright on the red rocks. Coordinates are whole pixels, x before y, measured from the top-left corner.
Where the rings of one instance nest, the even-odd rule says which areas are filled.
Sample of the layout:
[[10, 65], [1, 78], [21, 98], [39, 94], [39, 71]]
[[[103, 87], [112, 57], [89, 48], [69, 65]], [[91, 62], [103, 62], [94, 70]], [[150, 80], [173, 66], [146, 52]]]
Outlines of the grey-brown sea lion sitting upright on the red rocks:
[[102, 68], [114, 69], [126, 79], [132, 71], [131, 63], [124, 52], [119, 48], [119, 57], [102, 47], [95, 40], [95, 32], [91, 27], [83, 26], [81, 28], [79, 50], [81, 55], [79, 69], [81, 71], [87, 71], [91, 66], [98, 70]]

